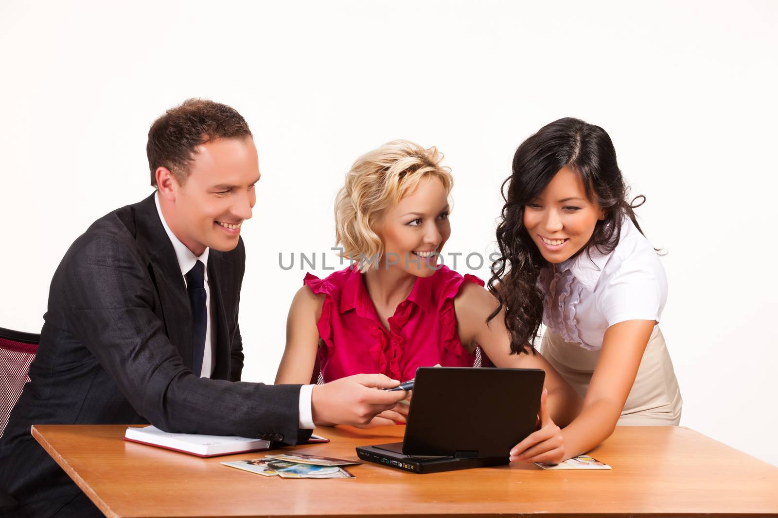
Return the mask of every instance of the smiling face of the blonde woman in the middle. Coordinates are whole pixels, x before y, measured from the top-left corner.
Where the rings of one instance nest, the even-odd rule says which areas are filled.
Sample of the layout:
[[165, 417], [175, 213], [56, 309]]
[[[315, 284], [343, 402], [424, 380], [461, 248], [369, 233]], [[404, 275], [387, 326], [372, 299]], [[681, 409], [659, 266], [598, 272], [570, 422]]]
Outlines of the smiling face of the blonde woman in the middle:
[[420, 277], [433, 275], [451, 235], [448, 211], [447, 192], [440, 179], [422, 179], [397, 207], [384, 214], [378, 232], [384, 242], [380, 268], [400, 268]]

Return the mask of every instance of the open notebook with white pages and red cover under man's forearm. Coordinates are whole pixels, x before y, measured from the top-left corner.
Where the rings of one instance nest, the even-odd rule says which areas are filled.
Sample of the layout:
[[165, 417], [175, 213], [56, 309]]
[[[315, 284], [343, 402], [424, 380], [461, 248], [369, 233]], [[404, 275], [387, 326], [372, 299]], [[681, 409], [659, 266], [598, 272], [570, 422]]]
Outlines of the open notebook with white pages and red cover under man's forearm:
[[[200, 435], [196, 433], [168, 433], [155, 426], [130, 427], [124, 433], [124, 440], [180, 451], [198, 457], [219, 457], [219, 455], [243, 454], [248, 451], [269, 450], [269, 440], [251, 439], [239, 436]], [[308, 443], [328, 443], [324, 437], [312, 435]]]

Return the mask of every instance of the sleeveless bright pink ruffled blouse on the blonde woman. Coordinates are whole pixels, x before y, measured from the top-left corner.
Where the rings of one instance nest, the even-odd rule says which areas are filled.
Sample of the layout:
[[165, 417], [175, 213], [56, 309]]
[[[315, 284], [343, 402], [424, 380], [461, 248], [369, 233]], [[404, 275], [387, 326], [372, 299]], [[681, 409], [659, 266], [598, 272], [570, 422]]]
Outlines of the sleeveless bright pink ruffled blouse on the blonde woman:
[[480, 348], [471, 354], [459, 341], [454, 297], [464, 282], [484, 285], [478, 277], [463, 277], [446, 266], [432, 276], [419, 277], [411, 294], [388, 319], [387, 330], [358, 268], [342, 269], [325, 279], [308, 273], [303, 283], [315, 294], [325, 295], [317, 322], [321, 338], [317, 363], [324, 382], [363, 373], [406, 381], [415, 377], [416, 368], [437, 363], [443, 367], [488, 365]]

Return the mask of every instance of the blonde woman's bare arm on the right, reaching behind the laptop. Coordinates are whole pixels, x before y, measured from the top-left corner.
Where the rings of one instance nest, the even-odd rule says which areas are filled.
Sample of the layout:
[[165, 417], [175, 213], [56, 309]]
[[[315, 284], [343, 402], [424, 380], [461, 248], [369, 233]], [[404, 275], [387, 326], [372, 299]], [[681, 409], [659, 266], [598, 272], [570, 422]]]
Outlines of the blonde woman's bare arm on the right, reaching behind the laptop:
[[454, 299], [457, 332], [466, 348], [478, 343], [497, 367], [545, 370], [544, 388], [548, 391], [548, 406], [555, 422], [567, 424], [581, 408], [581, 398], [540, 354], [510, 354], [510, 334], [505, 327], [504, 311], [488, 324], [486, 318], [498, 302], [483, 287], [465, 283]]

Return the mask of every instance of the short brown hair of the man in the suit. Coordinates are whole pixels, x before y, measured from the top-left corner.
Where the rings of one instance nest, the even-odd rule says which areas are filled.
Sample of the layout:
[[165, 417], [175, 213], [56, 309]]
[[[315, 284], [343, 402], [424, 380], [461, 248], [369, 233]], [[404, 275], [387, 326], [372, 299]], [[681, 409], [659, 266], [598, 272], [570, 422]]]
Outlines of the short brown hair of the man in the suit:
[[208, 99], [187, 99], [167, 110], [149, 129], [146, 155], [151, 186], [156, 187], [156, 169], [166, 167], [180, 185], [189, 176], [195, 148], [217, 138], [252, 137], [248, 124], [230, 106]]

